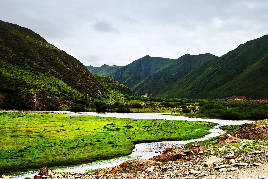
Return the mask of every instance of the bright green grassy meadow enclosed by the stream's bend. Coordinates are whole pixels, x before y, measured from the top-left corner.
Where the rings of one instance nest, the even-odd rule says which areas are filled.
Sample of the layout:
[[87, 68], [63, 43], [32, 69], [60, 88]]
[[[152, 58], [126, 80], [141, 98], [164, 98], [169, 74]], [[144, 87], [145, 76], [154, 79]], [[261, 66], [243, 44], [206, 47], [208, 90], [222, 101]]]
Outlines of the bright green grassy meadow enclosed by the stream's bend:
[[[109, 123], [115, 125], [107, 128], [121, 130], [104, 129]], [[35, 121], [31, 113], [0, 113], [0, 174], [115, 158], [131, 153], [132, 141], [199, 138], [208, 133], [205, 130], [211, 125], [214, 123], [51, 114], [38, 114]], [[122, 146], [112, 147], [108, 141]]]

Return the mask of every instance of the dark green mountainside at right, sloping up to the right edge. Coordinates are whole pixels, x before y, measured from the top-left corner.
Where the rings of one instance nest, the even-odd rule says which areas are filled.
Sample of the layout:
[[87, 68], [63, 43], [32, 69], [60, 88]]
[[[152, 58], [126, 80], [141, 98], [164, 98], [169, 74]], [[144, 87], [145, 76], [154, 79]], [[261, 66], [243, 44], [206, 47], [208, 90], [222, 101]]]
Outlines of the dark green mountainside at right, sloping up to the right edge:
[[217, 98], [236, 94], [268, 98], [267, 69], [268, 35], [265, 35], [203, 63], [158, 96]]

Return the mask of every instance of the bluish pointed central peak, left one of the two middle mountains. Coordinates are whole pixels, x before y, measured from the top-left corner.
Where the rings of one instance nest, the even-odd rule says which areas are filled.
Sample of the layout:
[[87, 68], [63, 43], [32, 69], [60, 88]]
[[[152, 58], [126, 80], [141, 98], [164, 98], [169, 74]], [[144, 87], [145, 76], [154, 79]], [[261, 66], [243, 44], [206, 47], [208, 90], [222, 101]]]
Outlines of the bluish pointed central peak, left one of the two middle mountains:
[[150, 57], [147, 55], [119, 68], [114, 74], [109, 75], [109, 77], [132, 89], [135, 85], [155, 73], [155, 71], [165, 67], [171, 61], [169, 58]]

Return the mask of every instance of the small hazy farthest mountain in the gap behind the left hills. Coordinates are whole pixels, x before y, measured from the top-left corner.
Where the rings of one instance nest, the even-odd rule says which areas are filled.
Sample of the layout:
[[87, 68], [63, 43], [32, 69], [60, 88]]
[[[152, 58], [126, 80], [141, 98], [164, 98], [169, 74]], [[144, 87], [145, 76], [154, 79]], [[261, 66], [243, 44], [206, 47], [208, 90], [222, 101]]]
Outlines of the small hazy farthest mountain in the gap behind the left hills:
[[121, 68], [122, 66], [109, 66], [109, 65], [102, 65], [101, 67], [94, 67], [94, 66], [86, 66], [91, 73], [96, 75], [104, 75], [109, 76], [110, 74], [114, 73], [117, 69]]

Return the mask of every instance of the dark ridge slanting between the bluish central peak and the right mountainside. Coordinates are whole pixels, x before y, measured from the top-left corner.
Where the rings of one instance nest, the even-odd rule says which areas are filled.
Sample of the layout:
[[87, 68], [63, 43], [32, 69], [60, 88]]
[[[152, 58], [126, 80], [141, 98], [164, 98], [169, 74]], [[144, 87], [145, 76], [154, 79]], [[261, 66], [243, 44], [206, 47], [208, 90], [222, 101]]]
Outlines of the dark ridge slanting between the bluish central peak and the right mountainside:
[[[139, 94], [148, 93], [148, 95], [155, 96], [170, 84], [182, 79], [192, 69], [198, 68], [203, 62], [210, 61], [215, 57], [217, 56], [209, 53], [202, 55], [185, 54], [178, 59], [171, 60], [165, 67], [135, 85], [132, 90]], [[161, 94], [159, 95], [161, 96]]]

